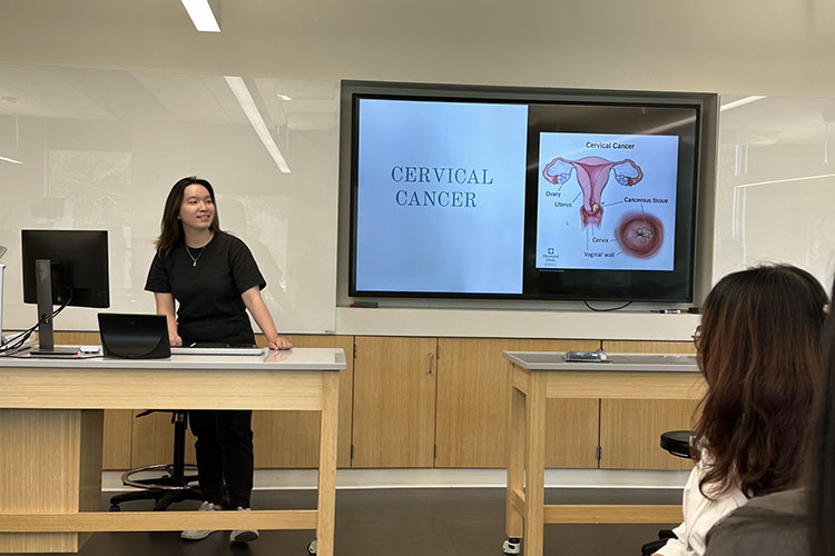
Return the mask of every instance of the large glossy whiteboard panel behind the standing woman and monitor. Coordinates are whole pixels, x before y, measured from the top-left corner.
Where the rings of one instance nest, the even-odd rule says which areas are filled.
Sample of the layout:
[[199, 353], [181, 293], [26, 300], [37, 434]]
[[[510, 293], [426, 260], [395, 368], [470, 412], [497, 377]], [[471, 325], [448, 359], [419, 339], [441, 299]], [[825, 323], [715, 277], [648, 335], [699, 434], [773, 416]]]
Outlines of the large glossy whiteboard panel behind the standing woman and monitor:
[[[35, 324], [22, 302], [20, 230], [105, 229], [110, 311], [153, 312], [144, 290], [175, 181], [217, 193], [220, 227], [253, 251], [279, 331], [335, 328], [338, 83], [244, 81], [281, 171], [223, 77], [0, 67], [0, 245], [9, 251], [3, 327]], [[96, 330], [70, 307], [58, 330]]]

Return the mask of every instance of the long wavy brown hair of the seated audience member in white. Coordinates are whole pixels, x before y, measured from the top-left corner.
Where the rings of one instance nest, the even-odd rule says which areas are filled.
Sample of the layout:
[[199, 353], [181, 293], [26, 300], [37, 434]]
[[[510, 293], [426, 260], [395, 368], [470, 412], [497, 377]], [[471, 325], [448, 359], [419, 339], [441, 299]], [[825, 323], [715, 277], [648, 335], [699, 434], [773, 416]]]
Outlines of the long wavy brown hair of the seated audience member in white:
[[707, 395], [694, 433], [709, 455], [699, 484], [706, 496], [797, 486], [821, 384], [826, 304], [815, 277], [787, 265], [728, 275], [708, 294], [697, 340]]

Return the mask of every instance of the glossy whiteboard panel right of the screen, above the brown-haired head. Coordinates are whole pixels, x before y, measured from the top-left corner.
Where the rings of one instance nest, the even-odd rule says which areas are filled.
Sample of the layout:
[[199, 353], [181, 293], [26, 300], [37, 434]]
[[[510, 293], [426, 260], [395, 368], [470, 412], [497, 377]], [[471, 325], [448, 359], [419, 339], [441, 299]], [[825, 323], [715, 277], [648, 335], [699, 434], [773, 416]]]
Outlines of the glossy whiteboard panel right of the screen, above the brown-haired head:
[[764, 262], [835, 269], [835, 99], [725, 96], [714, 281]]

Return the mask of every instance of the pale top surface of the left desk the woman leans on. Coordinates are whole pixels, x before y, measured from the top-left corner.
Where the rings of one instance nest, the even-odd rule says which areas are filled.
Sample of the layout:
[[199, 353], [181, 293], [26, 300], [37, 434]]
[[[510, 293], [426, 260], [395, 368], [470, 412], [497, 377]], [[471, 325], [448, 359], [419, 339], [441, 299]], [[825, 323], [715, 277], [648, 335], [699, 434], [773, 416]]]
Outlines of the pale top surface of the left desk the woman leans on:
[[268, 350], [261, 356], [173, 355], [165, 359], [124, 359], [119, 357], [33, 357], [26, 351], [16, 357], [0, 357], [1, 367], [71, 369], [258, 369], [258, 370], [342, 370], [345, 353], [337, 348], [294, 348]]

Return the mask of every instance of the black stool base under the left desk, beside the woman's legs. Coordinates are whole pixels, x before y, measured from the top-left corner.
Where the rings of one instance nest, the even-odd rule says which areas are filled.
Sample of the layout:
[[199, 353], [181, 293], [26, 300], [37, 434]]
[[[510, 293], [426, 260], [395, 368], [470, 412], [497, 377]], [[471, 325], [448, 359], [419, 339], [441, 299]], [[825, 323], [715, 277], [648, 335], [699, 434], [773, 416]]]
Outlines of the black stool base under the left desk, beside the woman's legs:
[[[153, 413], [157, 413], [157, 410], [149, 409], [138, 414], [137, 417], [145, 417]], [[186, 474], [187, 470], [194, 471], [197, 469], [196, 466], [185, 463], [188, 414], [179, 410], [170, 410], [169, 413], [171, 414], [171, 423], [174, 424], [173, 463], [138, 467], [125, 471], [121, 475], [122, 484], [125, 486], [140, 488], [140, 490], [111, 496], [110, 512], [119, 512], [119, 505], [124, 502], [155, 500], [154, 510], [161, 512], [177, 502], [203, 500], [203, 493], [200, 493], [200, 488], [196, 486], [197, 475], [194, 473]], [[134, 478], [135, 475], [145, 471], [158, 471], [163, 473], [163, 475], [153, 478]]]

